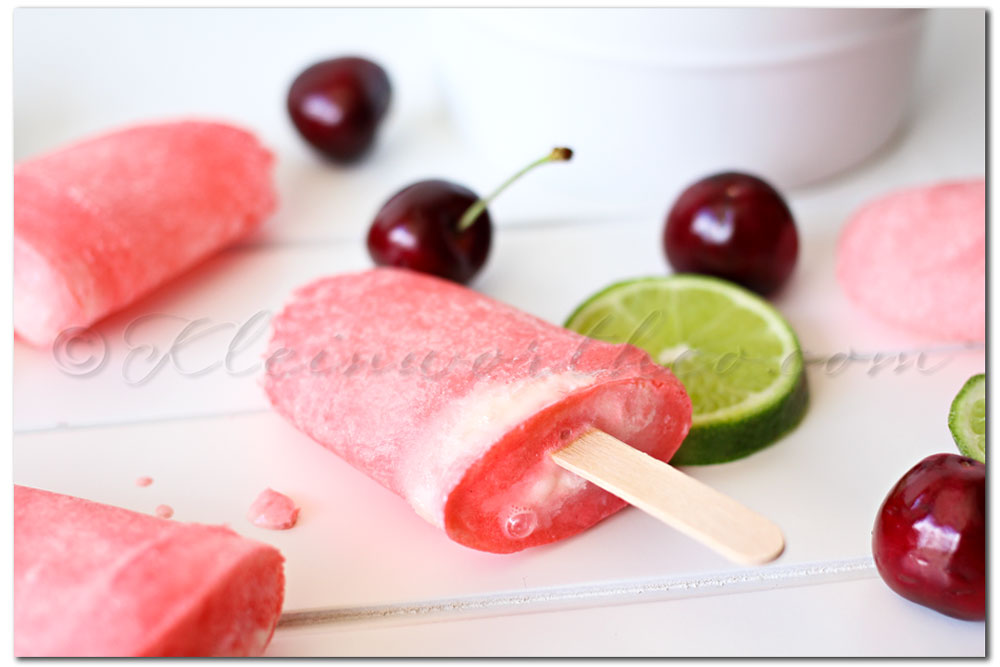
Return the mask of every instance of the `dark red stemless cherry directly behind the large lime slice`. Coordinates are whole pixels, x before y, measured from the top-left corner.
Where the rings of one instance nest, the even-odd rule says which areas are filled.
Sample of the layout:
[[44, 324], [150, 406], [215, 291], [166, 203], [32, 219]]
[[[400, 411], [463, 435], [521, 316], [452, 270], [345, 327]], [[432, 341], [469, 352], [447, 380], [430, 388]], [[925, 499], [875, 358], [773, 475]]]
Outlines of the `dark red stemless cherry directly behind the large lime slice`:
[[799, 238], [777, 190], [756, 176], [725, 172], [681, 193], [667, 214], [663, 247], [678, 273], [718, 276], [767, 295], [795, 268]]

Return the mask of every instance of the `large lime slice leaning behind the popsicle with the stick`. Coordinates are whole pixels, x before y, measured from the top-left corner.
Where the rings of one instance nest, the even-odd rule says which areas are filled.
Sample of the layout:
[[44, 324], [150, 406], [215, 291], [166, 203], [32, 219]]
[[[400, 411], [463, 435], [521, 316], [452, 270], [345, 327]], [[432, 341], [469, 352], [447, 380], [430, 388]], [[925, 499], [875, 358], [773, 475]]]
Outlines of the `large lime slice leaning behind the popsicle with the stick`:
[[672, 464], [744, 457], [805, 414], [795, 332], [769, 303], [725, 280], [682, 274], [616, 283], [577, 308], [566, 327], [641, 347], [684, 384], [694, 414]]

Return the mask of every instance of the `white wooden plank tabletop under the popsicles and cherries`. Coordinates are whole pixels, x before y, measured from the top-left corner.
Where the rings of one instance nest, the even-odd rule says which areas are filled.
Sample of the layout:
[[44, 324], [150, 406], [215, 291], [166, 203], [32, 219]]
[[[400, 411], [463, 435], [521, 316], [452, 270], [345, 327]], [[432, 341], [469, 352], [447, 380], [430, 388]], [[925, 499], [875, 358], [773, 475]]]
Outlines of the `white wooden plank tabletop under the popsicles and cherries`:
[[[905, 130], [850, 173], [788, 193], [802, 247], [776, 305], [812, 359], [806, 419], [754, 456], [689, 470], [785, 531], [777, 562], [739, 569], [631, 509], [520, 554], [458, 546], [268, 409], [253, 373], [263, 331], [216, 363], [294, 287], [369, 266], [367, 226], [399, 187], [443, 176], [484, 191], [505, 175], [453, 133], [418, 11], [19, 10], [17, 159], [130, 121], [217, 116], [275, 150], [282, 201], [254, 239], [102, 323], [100, 345], [57, 357], [15, 343], [15, 481], [144, 512], [166, 503], [178, 520], [280, 548], [289, 618], [326, 613], [279, 628], [269, 655], [984, 655], [984, 624], [897, 597], [869, 544], [896, 479], [952, 450], [948, 405], [984, 370], [984, 348], [874, 322], [833, 276], [838, 230], [862, 202], [985, 171], [985, 14], [929, 19]], [[303, 66], [347, 52], [383, 62], [397, 97], [371, 158], [343, 169], [314, 158], [283, 102]], [[540, 171], [493, 207], [475, 285], [557, 323], [611, 281], [667, 270], [659, 238], [676, 194], [596, 216], [557, 187], [569, 169]], [[167, 354], [201, 318], [224, 326]], [[135, 486], [140, 475], [153, 485]], [[301, 504], [296, 528], [245, 520], [267, 486]]]

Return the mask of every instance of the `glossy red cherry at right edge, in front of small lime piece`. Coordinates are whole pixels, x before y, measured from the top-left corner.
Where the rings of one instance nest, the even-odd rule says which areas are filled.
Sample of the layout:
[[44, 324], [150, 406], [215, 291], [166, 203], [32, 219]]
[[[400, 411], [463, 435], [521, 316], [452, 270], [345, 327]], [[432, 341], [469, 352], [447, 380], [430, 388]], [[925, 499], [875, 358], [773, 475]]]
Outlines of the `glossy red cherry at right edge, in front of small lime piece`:
[[934, 454], [896, 483], [872, 532], [875, 565], [908, 600], [986, 618], [986, 466]]

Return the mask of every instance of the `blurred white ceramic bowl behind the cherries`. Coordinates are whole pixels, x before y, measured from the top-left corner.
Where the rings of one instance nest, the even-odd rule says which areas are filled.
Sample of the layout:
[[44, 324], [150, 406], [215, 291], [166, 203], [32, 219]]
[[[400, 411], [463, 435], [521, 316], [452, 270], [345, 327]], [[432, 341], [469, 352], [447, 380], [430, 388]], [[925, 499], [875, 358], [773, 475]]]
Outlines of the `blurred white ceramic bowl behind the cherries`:
[[924, 10], [468, 9], [433, 14], [449, 106], [509, 168], [576, 150], [584, 197], [662, 202], [747, 170], [781, 188], [857, 164], [899, 126]]

